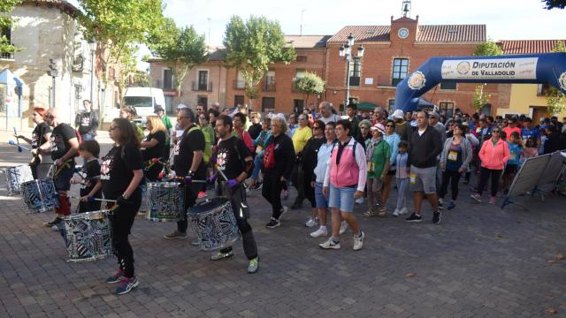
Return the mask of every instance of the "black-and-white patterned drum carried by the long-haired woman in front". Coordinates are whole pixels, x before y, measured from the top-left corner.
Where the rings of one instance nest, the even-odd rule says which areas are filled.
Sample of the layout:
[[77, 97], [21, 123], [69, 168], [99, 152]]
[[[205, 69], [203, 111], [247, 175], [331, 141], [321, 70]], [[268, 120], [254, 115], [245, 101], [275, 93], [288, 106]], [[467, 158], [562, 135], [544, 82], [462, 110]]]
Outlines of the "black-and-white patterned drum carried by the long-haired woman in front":
[[65, 243], [69, 261], [96, 261], [114, 252], [109, 210], [65, 216]]

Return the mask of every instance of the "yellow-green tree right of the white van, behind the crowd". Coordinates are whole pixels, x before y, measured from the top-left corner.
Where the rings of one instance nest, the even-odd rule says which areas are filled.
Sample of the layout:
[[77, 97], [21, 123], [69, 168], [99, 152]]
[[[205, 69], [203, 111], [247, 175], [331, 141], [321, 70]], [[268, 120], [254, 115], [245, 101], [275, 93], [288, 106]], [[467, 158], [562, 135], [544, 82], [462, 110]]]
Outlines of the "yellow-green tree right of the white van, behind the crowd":
[[193, 26], [179, 28], [169, 18], [149, 36], [149, 49], [171, 68], [177, 92], [187, 72], [208, 60], [204, 35], [196, 34]]

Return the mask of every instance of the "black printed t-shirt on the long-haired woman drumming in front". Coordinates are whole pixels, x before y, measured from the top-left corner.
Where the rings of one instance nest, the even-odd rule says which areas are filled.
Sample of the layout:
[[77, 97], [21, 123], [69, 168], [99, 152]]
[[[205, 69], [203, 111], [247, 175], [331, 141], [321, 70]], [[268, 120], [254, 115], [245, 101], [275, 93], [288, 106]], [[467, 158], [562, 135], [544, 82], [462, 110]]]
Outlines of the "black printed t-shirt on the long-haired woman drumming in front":
[[134, 178], [133, 170], [142, 170], [142, 168], [142, 154], [133, 143], [111, 148], [103, 157], [103, 164], [100, 168], [104, 198], [116, 200], [126, 191]]

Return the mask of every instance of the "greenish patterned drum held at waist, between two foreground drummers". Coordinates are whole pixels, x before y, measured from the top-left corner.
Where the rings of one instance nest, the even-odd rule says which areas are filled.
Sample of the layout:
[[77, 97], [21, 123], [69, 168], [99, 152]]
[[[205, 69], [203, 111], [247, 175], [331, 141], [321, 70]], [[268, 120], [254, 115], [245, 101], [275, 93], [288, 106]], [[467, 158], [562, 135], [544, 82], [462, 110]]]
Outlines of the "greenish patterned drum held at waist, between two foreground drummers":
[[185, 219], [184, 196], [175, 182], [148, 182], [146, 218], [156, 222]]

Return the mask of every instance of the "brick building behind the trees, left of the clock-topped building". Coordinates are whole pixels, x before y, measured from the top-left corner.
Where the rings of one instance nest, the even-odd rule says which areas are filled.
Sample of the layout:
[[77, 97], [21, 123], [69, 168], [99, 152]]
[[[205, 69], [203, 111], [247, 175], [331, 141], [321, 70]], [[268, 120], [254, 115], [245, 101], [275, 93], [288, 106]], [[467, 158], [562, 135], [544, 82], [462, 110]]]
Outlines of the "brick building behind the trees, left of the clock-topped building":
[[[294, 47], [297, 58], [291, 64], [273, 64], [269, 72], [262, 79], [259, 95], [253, 102], [254, 110], [276, 110], [277, 112], [289, 113], [291, 111], [302, 112], [302, 109], [311, 104], [316, 104], [321, 96], [309, 96], [294, 90], [294, 79], [301, 77], [304, 72], [315, 72], [321, 78], [325, 78], [325, 51], [326, 41], [331, 35], [286, 35], [287, 44]], [[244, 81], [239, 72], [229, 69], [227, 73], [228, 105], [251, 104], [248, 97], [244, 95]]]

